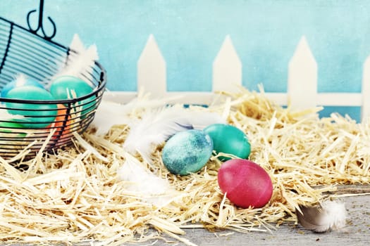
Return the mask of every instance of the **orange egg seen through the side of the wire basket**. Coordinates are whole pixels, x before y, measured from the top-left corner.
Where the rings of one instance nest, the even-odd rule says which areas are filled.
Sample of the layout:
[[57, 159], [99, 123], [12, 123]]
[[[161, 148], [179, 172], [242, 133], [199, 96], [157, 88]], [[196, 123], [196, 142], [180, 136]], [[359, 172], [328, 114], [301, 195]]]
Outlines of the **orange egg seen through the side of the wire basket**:
[[54, 122], [51, 123], [47, 128], [49, 129], [56, 129], [54, 135], [51, 138], [66, 138], [70, 134], [70, 127], [72, 125], [72, 121], [70, 119], [70, 115], [67, 115], [67, 109], [63, 104], [58, 104], [58, 111], [57, 115], [54, 119]]

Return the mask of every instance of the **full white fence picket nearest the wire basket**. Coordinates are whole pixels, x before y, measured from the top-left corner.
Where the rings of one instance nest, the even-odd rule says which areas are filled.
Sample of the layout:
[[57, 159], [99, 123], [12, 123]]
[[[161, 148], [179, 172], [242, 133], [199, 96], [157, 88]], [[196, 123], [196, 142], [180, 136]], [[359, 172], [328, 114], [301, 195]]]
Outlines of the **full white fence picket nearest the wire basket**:
[[150, 34], [147, 44], [137, 60], [137, 89], [151, 93], [154, 98], [166, 94], [166, 61], [156, 44], [154, 35]]

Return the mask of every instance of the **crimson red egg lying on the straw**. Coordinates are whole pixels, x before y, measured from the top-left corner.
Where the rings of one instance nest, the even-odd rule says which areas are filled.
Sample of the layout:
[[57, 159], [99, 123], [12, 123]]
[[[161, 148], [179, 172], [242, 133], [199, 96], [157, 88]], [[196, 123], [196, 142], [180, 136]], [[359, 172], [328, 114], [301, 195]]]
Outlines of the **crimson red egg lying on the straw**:
[[269, 174], [258, 164], [244, 159], [224, 162], [218, 169], [218, 186], [238, 207], [264, 207], [273, 186]]

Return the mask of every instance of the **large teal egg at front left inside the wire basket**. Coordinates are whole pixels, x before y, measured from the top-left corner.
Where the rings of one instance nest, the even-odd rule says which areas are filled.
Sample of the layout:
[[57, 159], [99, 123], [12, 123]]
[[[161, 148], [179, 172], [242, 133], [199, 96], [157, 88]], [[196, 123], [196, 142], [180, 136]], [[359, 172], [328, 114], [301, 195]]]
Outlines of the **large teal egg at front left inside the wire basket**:
[[37, 86], [20, 86], [8, 91], [6, 98], [46, 101], [47, 103], [33, 104], [33, 103], [13, 103], [6, 102], [6, 108], [12, 115], [23, 115], [26, 117], [22, 119], [23, 127], [26, 128], [44, 128], [50, 122], [53, 122], [56, 115], [56, 105], [50, 103], [54, 98], [51, 94]]

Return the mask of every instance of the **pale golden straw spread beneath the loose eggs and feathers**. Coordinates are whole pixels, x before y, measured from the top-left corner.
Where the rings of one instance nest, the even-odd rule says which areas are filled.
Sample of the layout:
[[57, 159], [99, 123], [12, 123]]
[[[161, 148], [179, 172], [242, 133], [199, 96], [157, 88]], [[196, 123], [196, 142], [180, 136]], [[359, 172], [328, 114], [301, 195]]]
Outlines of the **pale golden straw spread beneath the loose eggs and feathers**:
[[219, 112], [245, 131], [252, 145], [249, 159], [273, 181], [265, 207], [240, 209], [230, 203], [218, 188], [221, 162], [216, 158], [197, 174], [168, 173], [161, 163], [163, 145], [156, 146], [154, 166], [147, 168], [168, 179], [178, 194], [164, 207], [144, 202], [116, 175], [130, 129], [116, 125], [97, 136], [91, 127], [76, 135], [73, 146], [54, 154], [40, 151], [20, 162], [27, 170], [0, 157], [1, 240], [121, 245], [169, 235], [192, 245], [184, 228], [269, 231], [296, 223], [295, 207], [327, 198], [338, 184], [370, 183], [369, 123], [356, 124], [338, 114], [319, 119], [320, 108], [293, 112], [269, 101], [263, 91], [223, 95], [228, 99], [222, 103], [189, 110]]

